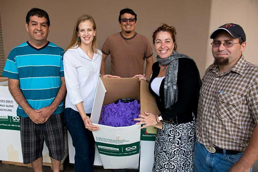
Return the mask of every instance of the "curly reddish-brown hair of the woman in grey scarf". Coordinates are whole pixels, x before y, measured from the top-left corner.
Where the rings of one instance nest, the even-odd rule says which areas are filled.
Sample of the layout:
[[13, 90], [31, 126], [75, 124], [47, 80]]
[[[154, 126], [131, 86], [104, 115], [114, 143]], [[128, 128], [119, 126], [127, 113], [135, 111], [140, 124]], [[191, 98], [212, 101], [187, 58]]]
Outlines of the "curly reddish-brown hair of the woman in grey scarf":
[[153, 32], [153, 35], [152, 35], [153, 44], [155, 44], [155, 39], [156, 39], [156, 36], [157, 36], [158, 32], [169, 32], [171, 34], [173, 42], [175, 43], [174, 50], [176, 51], [177, 44], [175, 42], [175, 35], [176, 35], [175, 27], [174, 26], [169, 26], [165, 23], [161, 23], [161, 24], [162, 25], [160, 27], [158, 27], [158, 29]]

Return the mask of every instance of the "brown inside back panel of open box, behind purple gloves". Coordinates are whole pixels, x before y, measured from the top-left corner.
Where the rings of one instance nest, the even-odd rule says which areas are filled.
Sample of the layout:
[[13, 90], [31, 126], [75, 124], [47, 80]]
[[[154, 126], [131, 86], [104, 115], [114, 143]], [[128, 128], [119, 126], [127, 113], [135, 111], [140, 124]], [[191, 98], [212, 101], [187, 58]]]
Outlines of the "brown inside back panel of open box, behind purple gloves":
[[140, 81], [138, 78], [101, 78], [101, 80], [107, 90], [103, 105], [124, 98], [139, 100]]

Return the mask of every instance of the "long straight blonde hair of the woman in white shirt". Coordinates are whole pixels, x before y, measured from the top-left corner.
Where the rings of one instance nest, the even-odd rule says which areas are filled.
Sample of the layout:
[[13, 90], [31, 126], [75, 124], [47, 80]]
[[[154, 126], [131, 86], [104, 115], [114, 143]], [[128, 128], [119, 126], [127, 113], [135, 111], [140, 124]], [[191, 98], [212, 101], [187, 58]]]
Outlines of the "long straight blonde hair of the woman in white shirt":
[[[80, 46], [81, 42], [78, 41], [78, 32], [79, 32], [79, 28], [78, 27], [79, 27], [79, 24], [81, 22], [84, 22], [86, 20], [91, 21], [91, 23], [93, 24], [93, 30], [96, 30], [96, 23], [95, 23], [94, 19], [91, 16], [86, 15], [86, 14], [80, 16], [77, 19], [77, 21], [76, 21], [76, 23], [74, 25], [72, 41], [70, 42], [69, 46], [67, 47], [67, 49], [65, 51], [67, 51], [68, 49], [71, 49], [71, 48], [73, 48], [73, 47], [75, 47], [77, 45]], [[93, 48], [93, 51], [96, 53], [97, 52], [97, 48], [96, 48], [97, 47], [97, 30], [96, 30], [95, 38], [96, 38], [96, 40], [94, 41], [94, 39], [93, 39], [93, 41], [92, 41], [92, 48]]]

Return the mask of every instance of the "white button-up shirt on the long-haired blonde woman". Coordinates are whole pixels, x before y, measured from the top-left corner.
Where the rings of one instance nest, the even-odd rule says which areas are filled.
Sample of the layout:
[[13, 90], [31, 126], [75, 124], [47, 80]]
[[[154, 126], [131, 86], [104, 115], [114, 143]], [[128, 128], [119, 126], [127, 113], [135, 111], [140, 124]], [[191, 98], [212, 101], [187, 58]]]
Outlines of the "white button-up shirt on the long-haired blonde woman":
[[75, 47], [63, 56], [64, 75], [66, 81], [65, 108], [78, 111], [76, 104], [83, 102], [86, 113], [91, 113], [97, 84], [100, 79], [102, 52], [98, 49], [93, 58], [80, 48]]

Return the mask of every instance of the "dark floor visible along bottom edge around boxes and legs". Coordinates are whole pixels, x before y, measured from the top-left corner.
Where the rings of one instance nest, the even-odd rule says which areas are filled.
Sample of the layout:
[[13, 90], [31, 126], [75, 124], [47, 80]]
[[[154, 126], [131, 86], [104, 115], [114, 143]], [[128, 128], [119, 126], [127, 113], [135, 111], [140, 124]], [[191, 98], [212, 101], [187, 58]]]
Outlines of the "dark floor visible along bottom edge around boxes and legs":
[[[0, 161], [0, 171], [1, 172], [34, 172], [33, 168], [15, 166], [15, 165], [5, 165]], [[50, 167], [43, 166], [44, 172], [52, 172]], [[65, 172], [74, 172], [73, 164], [67, 164], [64, 169]], [[94, 168], [94, 172], [113, 172], [113, 170]], [[128, 172], [139, 172], [139, 170], [129, 170]], [[253, 172], [258, 172], [258, 161], [253, 166]]]

